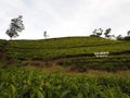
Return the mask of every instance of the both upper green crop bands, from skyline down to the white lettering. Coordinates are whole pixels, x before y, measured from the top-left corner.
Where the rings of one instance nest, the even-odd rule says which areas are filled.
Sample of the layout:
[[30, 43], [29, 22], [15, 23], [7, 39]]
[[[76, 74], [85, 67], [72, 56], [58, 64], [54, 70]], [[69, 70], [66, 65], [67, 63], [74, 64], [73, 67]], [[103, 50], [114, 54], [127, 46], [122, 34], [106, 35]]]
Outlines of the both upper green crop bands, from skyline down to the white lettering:
[[21, 60], [52, 60], [55, 58], [94, 56], [94, 52], [105, 51], [113, 54], [129, 50], [129, 42], [96, 37], [12, 40], [8, 47], [8, 58]]

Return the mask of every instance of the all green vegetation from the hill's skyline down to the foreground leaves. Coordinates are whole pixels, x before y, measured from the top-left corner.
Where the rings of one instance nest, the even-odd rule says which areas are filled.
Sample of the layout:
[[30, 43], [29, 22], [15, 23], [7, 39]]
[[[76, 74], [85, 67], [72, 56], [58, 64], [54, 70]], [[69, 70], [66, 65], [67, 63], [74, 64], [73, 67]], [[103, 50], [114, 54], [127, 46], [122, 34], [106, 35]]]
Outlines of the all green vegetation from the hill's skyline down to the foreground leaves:
[[[94, 52], [109, 54], [95, 57]], [[61, 68], [54, 72], [56, 65]], [[129, 72], [91, 76], [87, 74], [91, 70], [130, 70], [130, 42], [100, 37], [0, 40], [0, 98], [130, 98]]]

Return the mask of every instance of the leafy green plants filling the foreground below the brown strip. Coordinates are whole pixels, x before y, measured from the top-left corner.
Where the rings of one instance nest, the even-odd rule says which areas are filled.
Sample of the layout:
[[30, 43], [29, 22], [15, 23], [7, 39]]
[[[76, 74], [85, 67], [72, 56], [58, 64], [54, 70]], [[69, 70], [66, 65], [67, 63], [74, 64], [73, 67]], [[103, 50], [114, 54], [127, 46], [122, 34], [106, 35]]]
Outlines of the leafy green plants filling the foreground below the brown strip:
[[130, 98], [130, 77], [0, 69], [0, 98]]

